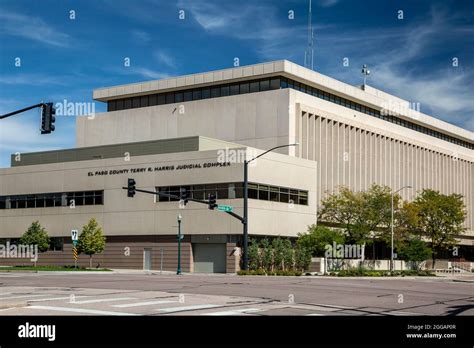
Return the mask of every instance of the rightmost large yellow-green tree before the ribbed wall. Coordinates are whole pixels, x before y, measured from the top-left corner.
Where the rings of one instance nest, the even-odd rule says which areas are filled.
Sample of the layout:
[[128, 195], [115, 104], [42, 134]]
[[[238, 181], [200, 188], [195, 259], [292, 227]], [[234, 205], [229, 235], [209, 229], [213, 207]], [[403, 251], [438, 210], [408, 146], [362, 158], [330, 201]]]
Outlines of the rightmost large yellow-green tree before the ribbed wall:
[[432, 268], [436, 255], [456, 244], [456, 237], [465, 231], [465, 205], [462, 195], [453, 193], [444, 195], [439, 191], [425, 189], [413, 202], [419, 220], [413, 226], [431, 241]]

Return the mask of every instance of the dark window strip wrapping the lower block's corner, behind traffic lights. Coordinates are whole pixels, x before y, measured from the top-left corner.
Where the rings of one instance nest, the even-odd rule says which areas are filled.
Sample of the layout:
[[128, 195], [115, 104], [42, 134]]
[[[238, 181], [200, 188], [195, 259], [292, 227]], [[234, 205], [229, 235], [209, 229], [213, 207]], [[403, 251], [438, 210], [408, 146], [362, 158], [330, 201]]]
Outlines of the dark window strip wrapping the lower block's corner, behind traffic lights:
[[[243, 183], [241, 182], [156, 188], [158, 192], [175, 196], [179, 196], [181, 189], [185, 189], [189, 192], [190, 198], [201, 200], [206, 200], [210, 194], [215, 195], [217, 200], [244, 197]], [[248, 195], [250, 199], [308, 205], [308, 191], [304, 190], [249, 183]], [[157, 200], [159, 202], [177, 201], [177, 199], [163, 196], [159, 196]]]

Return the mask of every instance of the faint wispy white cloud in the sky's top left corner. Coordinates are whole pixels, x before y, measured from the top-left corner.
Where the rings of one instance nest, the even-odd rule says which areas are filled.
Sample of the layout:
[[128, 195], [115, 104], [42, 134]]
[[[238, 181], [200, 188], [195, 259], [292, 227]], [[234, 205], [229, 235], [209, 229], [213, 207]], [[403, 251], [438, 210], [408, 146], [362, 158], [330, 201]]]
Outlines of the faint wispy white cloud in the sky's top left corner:
[[39, 17], [2, 10], [0, 21], [2, 22], [0, 27], [2, 33], [51, 46], [66, 47], [69, 45], [70, 36], [68, 34], [57, 31]]

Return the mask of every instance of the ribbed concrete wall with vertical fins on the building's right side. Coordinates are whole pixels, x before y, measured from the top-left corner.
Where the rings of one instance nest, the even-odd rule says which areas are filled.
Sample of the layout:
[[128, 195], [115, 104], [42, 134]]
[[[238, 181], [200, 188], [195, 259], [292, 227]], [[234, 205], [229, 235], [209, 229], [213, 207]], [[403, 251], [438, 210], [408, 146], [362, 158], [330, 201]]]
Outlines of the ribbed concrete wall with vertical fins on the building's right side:
[[[425, 188], [459, 193], [467, 208], [466, 235], [474, 237], [473, 151], [293, 91], [297, 156], [315, 160], [318, 202], [340, 185], [366, 190], [373, 183], [411, 200]], [[369, 122], [370, 121], [370, 122]], [[462, 240], [471, 244], [471, 240]]]

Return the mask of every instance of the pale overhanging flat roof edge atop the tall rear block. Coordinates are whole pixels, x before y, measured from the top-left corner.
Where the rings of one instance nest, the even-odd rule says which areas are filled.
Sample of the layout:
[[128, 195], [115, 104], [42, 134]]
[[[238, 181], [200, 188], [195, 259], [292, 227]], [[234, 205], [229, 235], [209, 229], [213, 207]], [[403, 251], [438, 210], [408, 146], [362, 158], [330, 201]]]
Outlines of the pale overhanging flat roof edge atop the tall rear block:
[[421, 112], [417, 113], [417, 117], [414, 119], [411, 115], [412, 110], [408, 108], [409, 102], [406, 100], [370, 86], [360, 88], [349, 85], [288, 60], [279, 60], [161, 80], [98, 88], [93, 91], [93, 98], [94, 100], [107, 102], [109, 100], [126, 97], [156, 94], [191, 87], [203, 87], [217, 83], [237, 82], [270, 76], [285, 76], [292, 78], [310, 86], [346, 97], [379, 110], [387, 108], [387, 105], [395, 105], [397, 110], [396, 113], [401, 118], [432, 128], [441, 133], [451, 134], [468, 141], [474, 141], [474, 132], [439, 120], [427, 114]]

